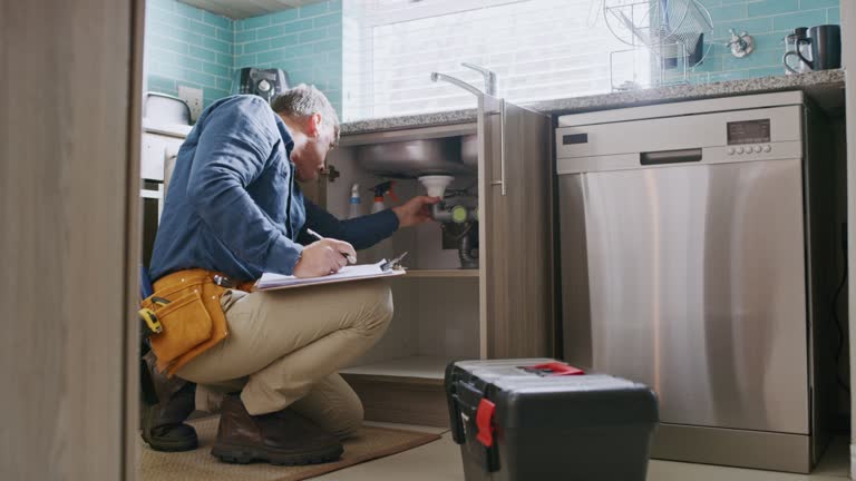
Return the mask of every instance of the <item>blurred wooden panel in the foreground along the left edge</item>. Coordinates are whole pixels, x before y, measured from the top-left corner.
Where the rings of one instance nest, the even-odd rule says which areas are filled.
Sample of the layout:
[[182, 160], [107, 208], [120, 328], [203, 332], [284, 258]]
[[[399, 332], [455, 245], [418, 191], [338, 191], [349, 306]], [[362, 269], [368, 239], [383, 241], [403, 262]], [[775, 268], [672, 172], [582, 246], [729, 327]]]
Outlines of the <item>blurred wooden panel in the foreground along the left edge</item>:
[[0, 479], [137, 478], [144, 2], [0, 2]]

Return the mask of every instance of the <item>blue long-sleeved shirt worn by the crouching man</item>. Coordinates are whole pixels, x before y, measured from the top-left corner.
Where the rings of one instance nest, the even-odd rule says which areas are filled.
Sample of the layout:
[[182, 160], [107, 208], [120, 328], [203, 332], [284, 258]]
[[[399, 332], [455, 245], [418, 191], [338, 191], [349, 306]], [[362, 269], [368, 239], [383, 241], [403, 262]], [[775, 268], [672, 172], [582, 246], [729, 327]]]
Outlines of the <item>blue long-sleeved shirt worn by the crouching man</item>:
[[303, 197], [285, 124], [255, 96], [212, 104], [178, 150], [155, 238], [152, 279], [187, 269], [236, 281], [291, 274], [312, 228], [367, 248], [398, 229], [391, 210], [341, 222]]

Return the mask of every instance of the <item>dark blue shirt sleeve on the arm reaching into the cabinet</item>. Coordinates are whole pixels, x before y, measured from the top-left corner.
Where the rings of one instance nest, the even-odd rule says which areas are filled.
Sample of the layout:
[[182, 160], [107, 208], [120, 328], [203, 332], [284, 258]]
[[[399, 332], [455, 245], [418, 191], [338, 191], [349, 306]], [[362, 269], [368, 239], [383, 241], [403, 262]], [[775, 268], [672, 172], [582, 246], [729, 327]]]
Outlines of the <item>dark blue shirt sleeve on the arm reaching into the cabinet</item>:
[[304, 199], [303, 205], [307, 207], [307, 223], [303, 225], [299, 240], [307, 244], [314, 242], [314, 238], [307, 234], [308, 228], [324, 237], [350, 243], [358, 251], [369, 248], [398, 230], [398, 216], [392, 209], [339, 220], [309, 199]]

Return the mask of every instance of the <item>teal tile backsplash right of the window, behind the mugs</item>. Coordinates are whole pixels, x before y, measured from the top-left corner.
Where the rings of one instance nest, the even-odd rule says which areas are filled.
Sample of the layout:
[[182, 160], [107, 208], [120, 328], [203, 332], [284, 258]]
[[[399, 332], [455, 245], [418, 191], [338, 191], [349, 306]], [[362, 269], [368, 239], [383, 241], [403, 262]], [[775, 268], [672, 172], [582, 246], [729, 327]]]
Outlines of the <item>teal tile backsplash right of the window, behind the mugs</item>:
[[[839, 23], [840, 0], [701, 0], [713, 19], [713, 38], [704, 62], [690, 72], [694, 84], [784, 75], [784, 39], [796, 27]], [[755, 37], [756, 50], [735, 58], [726, 48], [728, 30]]]

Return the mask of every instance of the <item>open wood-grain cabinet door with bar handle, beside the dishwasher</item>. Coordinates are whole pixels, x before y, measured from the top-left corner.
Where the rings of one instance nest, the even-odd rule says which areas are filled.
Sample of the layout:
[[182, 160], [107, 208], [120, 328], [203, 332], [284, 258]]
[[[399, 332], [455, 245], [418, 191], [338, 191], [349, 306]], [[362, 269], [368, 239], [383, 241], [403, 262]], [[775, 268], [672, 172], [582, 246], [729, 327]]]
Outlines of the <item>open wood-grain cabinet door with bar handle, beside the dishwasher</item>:
[[549, 128], [543, 114], [479, 99], [483, 357], [553, 354]]

